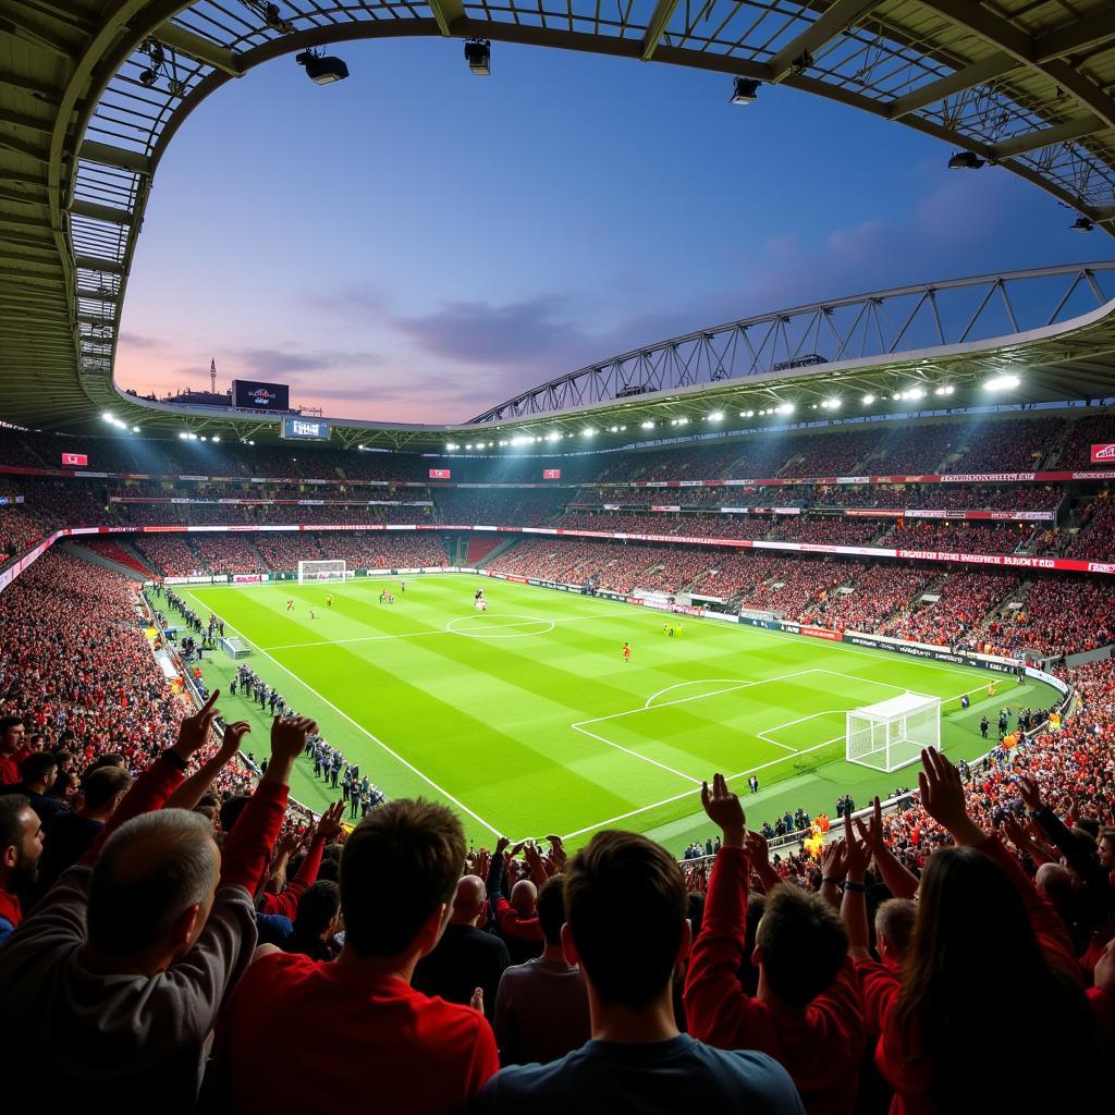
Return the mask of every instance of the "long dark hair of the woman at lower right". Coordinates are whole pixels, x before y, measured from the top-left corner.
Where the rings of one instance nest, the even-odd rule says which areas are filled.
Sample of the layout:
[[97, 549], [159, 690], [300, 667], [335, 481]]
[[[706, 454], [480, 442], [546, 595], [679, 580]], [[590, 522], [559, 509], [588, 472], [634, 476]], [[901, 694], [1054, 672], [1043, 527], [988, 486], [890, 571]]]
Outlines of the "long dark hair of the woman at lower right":
[[[973, 958], [990, 966], [985, 979], [972, 978]], [[971, 1050], [987, 1040], [988, 980], [997, 1018], [1056, 1019], [1043, 1029], [1056, 1073], [971, 1073]], [[1076, 1111], [1064, 1082], [1083, 1085], [1097, 1059], [1084, 992], [1046, 959], [1018, 885], [973, 847], [929, 857], [893, 1018], [942, 1108], [962, 1095], [972, 1111]]]

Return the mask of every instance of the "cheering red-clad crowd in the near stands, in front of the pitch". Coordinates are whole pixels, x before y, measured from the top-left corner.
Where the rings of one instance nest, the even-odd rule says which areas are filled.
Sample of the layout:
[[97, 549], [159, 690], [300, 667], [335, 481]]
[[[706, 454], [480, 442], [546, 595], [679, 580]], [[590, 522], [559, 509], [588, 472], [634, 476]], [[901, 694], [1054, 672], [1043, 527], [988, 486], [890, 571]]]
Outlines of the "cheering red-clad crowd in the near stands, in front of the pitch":
[[[813, 570], [825, 592], [864, 576]], [[983, 763], [924, 753], [902, 809], [815, 857], [772, 857], [709, 772], [712, 860], [683, 873], [615, 830], [575, 855], [558, 836], [469, 850], [429, 802], [347, 834], [342, 802], [292, 816], [295, 762], [328, 759], [336, 785], [318, 726], [275, 716], [256, 780], [246, 724], [213, 741], [217, 696], [168, 688], [136, 607], [62, 553], [0, 594], [0, 1014], [36, 1087], [171, 1113], [361, 1089], [430, 1113], [1109, 1106], [1111, 660]], [[989, 1034], [1045, 1059], [1000, 1064]]]

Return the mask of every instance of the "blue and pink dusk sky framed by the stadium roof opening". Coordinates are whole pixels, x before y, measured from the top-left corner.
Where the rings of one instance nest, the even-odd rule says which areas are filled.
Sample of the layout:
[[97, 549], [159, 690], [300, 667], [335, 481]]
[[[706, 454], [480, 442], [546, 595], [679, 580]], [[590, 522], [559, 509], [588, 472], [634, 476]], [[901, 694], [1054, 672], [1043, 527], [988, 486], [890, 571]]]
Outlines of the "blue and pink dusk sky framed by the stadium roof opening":
[[231, 81], [155, 176], [120, 387], [289, 382], [327, 415], [458, 421], [750, 313], [1106, 254], [1006, 171], [789, 89], [495, 42], [347, 43]]

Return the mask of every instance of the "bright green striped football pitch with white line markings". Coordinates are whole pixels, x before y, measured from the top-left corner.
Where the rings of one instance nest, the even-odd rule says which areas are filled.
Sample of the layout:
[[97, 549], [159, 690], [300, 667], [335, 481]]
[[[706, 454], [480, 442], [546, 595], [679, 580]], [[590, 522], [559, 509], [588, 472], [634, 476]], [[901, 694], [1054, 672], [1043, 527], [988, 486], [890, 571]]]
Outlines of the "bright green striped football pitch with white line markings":
[[[394, 607], [378, 603], [385, 583]], [[482, 583], [486, 613], [473, 608]], [[993, 724], [1004, 704], [1054, 697], [1038, 682], [715, 620], [682, 619], [671, 639], [653, 610], [496, 580], [436, 574], [398, 588], [369, 579], [180, 592], [244, 637], [252, 669], [388, 796], [448, 802], [477, 844], [555, 832], [575, 845], [621, 826], [678, 850], [709, 834], [698, 791], [716, 770], [731, 776], [755, 825], [798, 805], [833, 815], [840, 794], [864, 804], [915, 779], [915, 767], [888, 775], [843, 759], [847, 709], [908, 689], [941, 697], [946, 752], [972, 758], [987, 749], [981, 712]], [[211, 687], [226, 694], [234, 670], [223, 652], [206, 656]], [[961, 712], [963, 692], [972, 702]], [[253, 721], [246, 749], [265, 755], [259, 706], [239, 696], [220, 706]], [[757, 795], [747, 793], [753, 772]], [[292, 788], [314, 809], [333, 795], [306, 760]]]

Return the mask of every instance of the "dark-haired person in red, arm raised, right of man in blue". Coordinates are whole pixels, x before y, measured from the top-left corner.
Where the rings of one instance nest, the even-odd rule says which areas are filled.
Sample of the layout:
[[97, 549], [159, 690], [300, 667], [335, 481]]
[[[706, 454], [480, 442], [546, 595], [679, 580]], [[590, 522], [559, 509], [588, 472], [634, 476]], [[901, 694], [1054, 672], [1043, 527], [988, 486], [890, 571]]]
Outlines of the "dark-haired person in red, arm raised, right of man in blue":
[[[836, 911], [794, 883], [774, 885], [750, 958], [759, 970], [753, 998], [739, 981], [748, 959], [750, 857], [744, 809], [723, 775], [705, 783], [701, 803], [719, 825], [701, 930], [689, 954], [689, 1032], [721, 1049], [759, 1049], [782, 1064], [809, 1115], [852, 1109], [864, 1049], [860, 989]], [[773, 882], [773, 880], [772, 880]]]

